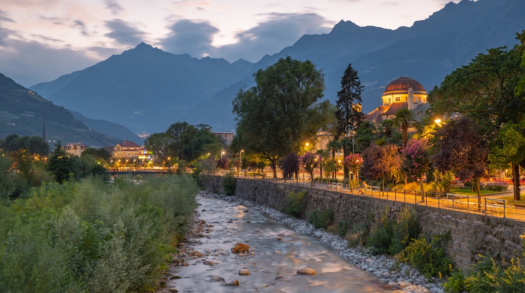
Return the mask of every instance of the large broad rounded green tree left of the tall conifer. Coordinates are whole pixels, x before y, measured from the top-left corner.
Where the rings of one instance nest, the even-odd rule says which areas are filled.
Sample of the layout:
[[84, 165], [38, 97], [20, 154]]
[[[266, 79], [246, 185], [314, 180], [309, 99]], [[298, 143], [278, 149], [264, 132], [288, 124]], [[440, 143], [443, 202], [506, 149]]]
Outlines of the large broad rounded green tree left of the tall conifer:
[[289, 56], [255, 75], [257, 86], [240, 89], [232, 101], [241, 145], [270, 160], [296, 150], [323, 124], [323, 75], [310, 61]]

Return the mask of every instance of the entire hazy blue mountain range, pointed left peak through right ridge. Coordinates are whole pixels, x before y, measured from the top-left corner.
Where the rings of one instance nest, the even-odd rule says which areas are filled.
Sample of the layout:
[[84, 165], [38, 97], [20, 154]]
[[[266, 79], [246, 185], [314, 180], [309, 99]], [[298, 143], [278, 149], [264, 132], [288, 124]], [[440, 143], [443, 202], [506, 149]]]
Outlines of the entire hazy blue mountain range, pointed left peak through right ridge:
[[414, 78], [430, 91], [477, 54], [517, 44], [516, 33], [525, 28], [524, 12], [523, 0], [463, 0], [395, 30], [341, 20], [330, 33], [304, 35], [256, 64], [173, 55], [142, 43], [30, 89], [60, 106], [123, 124], [135, 133], [165, 131], [177, 121], [231, 131], [235, 128], [232, 99], [239, 89], [254, 85], [258, 69], [290, 56], [311, 60], [322, 70], [325, 98], [333, 103], [351, 62], [365, 86], [363, 112], [367, 113], [380, 106], [384, 87], [397, 77]]

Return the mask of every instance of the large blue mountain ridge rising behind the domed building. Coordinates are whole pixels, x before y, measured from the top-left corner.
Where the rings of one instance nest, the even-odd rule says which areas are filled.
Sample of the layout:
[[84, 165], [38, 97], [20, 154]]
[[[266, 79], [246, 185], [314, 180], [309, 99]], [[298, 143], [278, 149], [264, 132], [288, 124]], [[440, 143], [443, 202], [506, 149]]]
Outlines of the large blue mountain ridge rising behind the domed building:
[[384, 88], [400, 76], [414, 78], [430, 91], [477, 54], [518, 44], [516, 33], [525, 29], [524, 13], [523, 0], [463, 0], [448, 3], [412, 27], [395, 30], [341, 20], [329, 34], [304, 35], [279, 53], [263, 57], [243, 80], [188, 111], [188, 122], [233, 128], [231, 100], [239, 88], [253, 86], [254, 72], [286, 56], [310, 60], [322, 69], [324, 95], [332, 103], [337, 100], [343, 71], [351, 62], [365, 86], [363, 112], [368, 113], [381, 105]]

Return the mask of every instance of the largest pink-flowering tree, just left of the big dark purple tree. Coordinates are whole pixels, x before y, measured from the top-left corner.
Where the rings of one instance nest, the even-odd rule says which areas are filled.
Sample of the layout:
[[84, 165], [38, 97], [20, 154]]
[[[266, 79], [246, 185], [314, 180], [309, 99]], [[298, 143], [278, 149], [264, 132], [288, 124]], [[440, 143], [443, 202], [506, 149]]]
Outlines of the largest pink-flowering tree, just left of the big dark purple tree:
[[405, 148], [401, 149], [403, 155], [401, 169], [409, 177], [419, 180], [421, 187], [421, 197], [423, 195], [423, 175], [425, 175], [430, 165], [430, 146], [426, 139], [411, 139], [407, 142]]

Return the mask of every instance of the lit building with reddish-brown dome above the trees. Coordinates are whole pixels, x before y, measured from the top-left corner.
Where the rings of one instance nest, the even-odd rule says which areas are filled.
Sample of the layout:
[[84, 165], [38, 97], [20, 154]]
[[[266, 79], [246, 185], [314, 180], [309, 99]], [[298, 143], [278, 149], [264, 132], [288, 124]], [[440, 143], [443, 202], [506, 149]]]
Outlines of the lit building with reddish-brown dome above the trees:
[[380, 124], [383, 120], [394, 119], [397, 110], [408, 109], [416, 121], [421, 121], [430, 107], [427, 98], [427, 92], [419, 81], [407, 76], [399, 77], [388, 83], [381, 96], [383, 104], [368, 113], [365, 120]]

